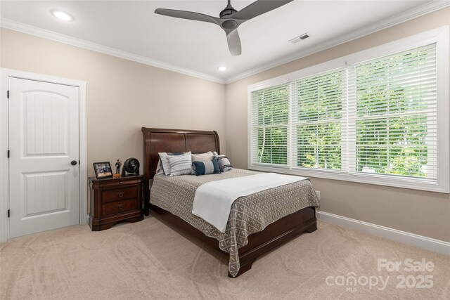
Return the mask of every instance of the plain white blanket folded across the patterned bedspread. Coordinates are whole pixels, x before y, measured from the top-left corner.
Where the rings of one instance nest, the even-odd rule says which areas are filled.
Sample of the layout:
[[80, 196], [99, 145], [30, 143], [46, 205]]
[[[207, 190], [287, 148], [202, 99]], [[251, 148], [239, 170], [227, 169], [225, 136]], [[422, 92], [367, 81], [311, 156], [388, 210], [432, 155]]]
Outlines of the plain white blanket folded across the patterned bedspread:
[[238, 197], [305, 179], [307, 178], [300, 176], [264, 173], [204, 183], [195, 191], [192, 214], [225, 233], [231, 204]]

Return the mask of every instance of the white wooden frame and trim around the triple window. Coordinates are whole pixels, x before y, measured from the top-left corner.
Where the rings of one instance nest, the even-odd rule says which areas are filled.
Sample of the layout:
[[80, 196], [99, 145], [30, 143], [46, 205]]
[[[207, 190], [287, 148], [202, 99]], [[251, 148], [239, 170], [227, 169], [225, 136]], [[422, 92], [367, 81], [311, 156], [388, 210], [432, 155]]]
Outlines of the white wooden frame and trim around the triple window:
[[[294, 167], [292, 163], [293, 148], [290, 146], [288, 133], [288, 166], [271, 167], [267, 164], [252, 163], [252, 92], [266, 89], [279, 84], [293, 84], [296, 79], [309, 77], [314, 74], [331, 72], [346, 65], [354, 65], [366, 60], [372, 60], [393, 53], [408, 51], [413, 48], [436, 44], [437, 61], [437, 180], [427, 178], [414, 178], [406, 176], [395, 176], [388, 174], [358, 173], [343, 170], [313, 169]], [[427, 190], [438, 193], [449, 193], [450, 190], [450, 148], [449, 148], [449, 27], [439, 27], [435, 30], [415, 34], [411, 37], [392, 41], [387, 44], [359, 51], [336, 58], [334, 60], [313, 65], [311, 67], [284, 74], [273, 79], [258, 82], [248, 86], [248, 169], [255, 171], [276, 171], [284, 174], [310, 176], [316, 178], [327, 178], [340, 181], [352, 181], [357, 183], [368, 183], [373, 185], [385, 185], [397, 188], [409, 188], [413, 190]], [[290, 99], [290, 101], [292, 101]], [[292, 103], [289, 103], [292, 105]], [[291, 120], [289, 121], [291, 122]], [[288, 131], [289, 132], [289, 131]], [[342, 143], [342, 149], [347, 147]], [[343, 160], [342, 168], [345, 167], [347, 159]]]

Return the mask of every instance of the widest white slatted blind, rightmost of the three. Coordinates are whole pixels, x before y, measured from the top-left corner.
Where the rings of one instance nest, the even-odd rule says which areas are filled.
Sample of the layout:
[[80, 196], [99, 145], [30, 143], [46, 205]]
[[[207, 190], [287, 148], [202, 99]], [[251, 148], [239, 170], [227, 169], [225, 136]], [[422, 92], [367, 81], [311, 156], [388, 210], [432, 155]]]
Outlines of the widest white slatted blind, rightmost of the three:
[[349, 82], [349, 171], [436, 179], [436, 45], [352, 65]]

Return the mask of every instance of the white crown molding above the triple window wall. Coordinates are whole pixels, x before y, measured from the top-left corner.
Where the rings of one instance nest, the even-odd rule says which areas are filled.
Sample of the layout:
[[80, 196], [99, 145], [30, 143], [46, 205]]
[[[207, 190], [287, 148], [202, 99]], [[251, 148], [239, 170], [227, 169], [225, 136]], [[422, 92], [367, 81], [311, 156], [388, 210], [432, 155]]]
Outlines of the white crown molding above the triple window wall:
[[265, 65], [259, 65], [258, 67], [255, 67], [252, 70], [248, 70], [246, 72], [237, 74], [236, 76], [229, 77], [225, 80], [225, 84], [231, 84], [234, 81], [238, 81], [240, 79], [250, 77], [254, 74], [264, 72], [273, 67], [278, 67], [279, 65], [284, 65], [285, 63], [290, 63], [293, 60], [297, 60], [300, 58], [304, 58], [306, 56], [310, 56], [311, 54], [318, 53], [318, 52], [326, 50], [328, 48], [333, 48], [334, 46], [338, 46], [340, 44], [347, 43], [347, 41], [352, 41], [354, 39], [364, 37], [368, 34], [372, 34], [374, 32], [378, 32], [380, 30], [384, 30], [388, 27], [392, 27], [392, 26], [400, 24], [402, 22], [406, 22], [408, 20], [418, 18], [421, 15], [426, 15], [427, 13], [432, 13], [433, 11], [438, 11], [439, 9], [446, 8], [447, 6], [450, 6], [449, 0], [435, 0], [435, 1], [428, 2], [427, 4], [423, 4], [416, 8], [412, 8], [409, 11], [405, 11], [404, 13], [399, 13], [398, 15], [394, 15], [385, 20], [381, 20], [380, 22], [375, 22], [366, 27], [361, 27], [358, 30], [350, 32], [349, 34], [345, 34], [340, 37], [336, 37], [335, 39], [330, 39], [323, 43], [317, 44], [311, 48], [305, 49], [304, 51], [297, 52], [292, 56], [284, 57], [279, 60], [274, 60]]

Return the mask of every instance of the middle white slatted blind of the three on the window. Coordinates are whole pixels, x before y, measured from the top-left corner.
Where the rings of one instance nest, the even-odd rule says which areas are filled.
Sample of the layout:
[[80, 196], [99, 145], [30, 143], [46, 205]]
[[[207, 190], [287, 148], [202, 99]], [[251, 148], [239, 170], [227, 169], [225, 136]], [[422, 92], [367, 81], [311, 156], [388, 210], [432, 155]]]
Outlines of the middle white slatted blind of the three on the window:
[[293, 167], [341, 169], [343, 70], [293, 83]]

